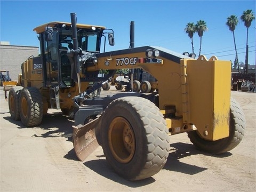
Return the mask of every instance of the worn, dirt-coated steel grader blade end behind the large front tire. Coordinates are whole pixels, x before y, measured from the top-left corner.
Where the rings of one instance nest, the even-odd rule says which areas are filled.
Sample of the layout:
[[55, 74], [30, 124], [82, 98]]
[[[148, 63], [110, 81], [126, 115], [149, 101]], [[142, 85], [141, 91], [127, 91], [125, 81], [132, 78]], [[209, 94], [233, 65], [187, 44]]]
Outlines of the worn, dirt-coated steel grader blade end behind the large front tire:
[[99, 118], [96, 118], [85, 125], [73, 126], [73, 145], [80, 161], [84, 161], [99, 147], [95, 134], [95, 127], [99, 122]]

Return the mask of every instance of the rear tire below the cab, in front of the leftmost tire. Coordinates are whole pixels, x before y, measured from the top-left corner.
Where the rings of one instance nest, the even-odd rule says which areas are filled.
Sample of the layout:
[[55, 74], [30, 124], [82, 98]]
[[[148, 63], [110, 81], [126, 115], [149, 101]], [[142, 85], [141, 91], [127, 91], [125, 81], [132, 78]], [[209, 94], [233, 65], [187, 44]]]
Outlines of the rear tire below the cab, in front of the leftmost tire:
[[26, 126], [41, 124], [43, 118], [43, 101], [36, 87], [27, 87], [20, 93], [20, 118]]

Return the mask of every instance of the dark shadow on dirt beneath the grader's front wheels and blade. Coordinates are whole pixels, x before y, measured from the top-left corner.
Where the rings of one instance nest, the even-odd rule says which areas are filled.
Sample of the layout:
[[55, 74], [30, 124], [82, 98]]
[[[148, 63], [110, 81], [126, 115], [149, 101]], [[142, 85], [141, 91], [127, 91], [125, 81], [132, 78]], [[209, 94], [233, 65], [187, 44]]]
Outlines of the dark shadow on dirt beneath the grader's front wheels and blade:
[[[188, 144], [188, 143], [181, 143], [181, 142], [171, 143], [170, 147], [171, 147], [171, 151], [169, 153], [169, 157], [167, 158], [167, 162], [163, 167], [163, 169], [167, 171], [175, 171], [175, 172], [180, 172], [180, 173], [189, 174], [189, 175], [203, 172], [207, 170], [207, 168], [186, 164], [186, 163], [180, 162], [179, 159], [186, 158], [192, 155], [198, 155], [198, 154], [203, 154], [206, 156], [212, 156], [217, 158], [228, 157], [232, 155], [231, 153], [225, 153], [221, 155], [212, 155], [208, 153], [203, 153], [202, 151], [197, 150], [194, 147], [194, 145]], [[134, 188], [145, 186], [155, 182], [155, 179], [153, 177], [150, 177], [141, 181], [125, 180], [111, 168], [111, 166], [108, 164], [107, 160], [105, 159], [104, 155], [100, 155], [97, 157], [99, 159], [86, 161], [83, 164], [89, 169], [91, 169], [92, 171], [102, 175], [102, 177], [121, 183], [122, 185], [134, 187]], [[71, 149], [64, 156], [64, 158], [72, 159], [74, 161], [79, 161], [79, 159], [76, 157], [74, 148]]]

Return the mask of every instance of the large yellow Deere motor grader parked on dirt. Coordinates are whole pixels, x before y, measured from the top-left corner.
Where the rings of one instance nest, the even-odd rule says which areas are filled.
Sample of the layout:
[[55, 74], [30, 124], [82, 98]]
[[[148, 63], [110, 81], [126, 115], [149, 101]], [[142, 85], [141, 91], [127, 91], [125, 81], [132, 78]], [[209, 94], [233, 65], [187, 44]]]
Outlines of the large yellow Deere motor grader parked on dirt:
[[[72, 98], [72, 107], [76, 109], [75, 113], [73, 112], [73, 144], [81, 161], [85, 161], [100, 145], [108, 163], [121, 177], [127, 180], [142, 180], [164, 167], [170, 151], [170, 135], [187, 133], [190, 141], [199, 150], [212, 154], [226, 153], [241, 142], [246, 123], [243, 110], [230, 98], [230, 61], [218, 60], [214, 56], [207, 59], [204, 55], [193, 59], [156, 46], [100, 53], [100, 41], [97, 48], [90, 51], [83, 49], [83, 43], [79, 40], [79, 34], [85, 25], [76, 24], [75, 13], [70, 16], [71, 25], [63, 23], [71, 27], [72, 35], [70, 31], [65, 35], [71, 35], [74, 44], [73, 49], [63, 50], [63, 55], [67, 55], [70, 62], [69, 86], [65, 81], [61, 81], [64, 77], [62, 73], [58, 73], [63, 71], [61, 62], [58, 63], [56, 76], [53, 70], [50, 70], [54, 64], [54, 60], [49, 59], [52, 58], [50, 44], [60, 44], [61, 41], [54, 40], [54, 37], [60, 35], [62, 25], [60, 26], [60, 22], [49, 23], [36, 28], [37, 33], [41, 34], [39, 37], [44, 38], [41, 42], [45, 44], [41, 46], [47, 45], [47, 49], [43, 48], [43, 58], [47, 62], [39, 62], [39, 59], [37, 61], [35, 58], [32, 59], [33, 62], [26, 62], [31, 66], [35, 63], [38, 67], [45, 68], [47, 73], [44, 77], [49, 83], [27, 83], [20, 95], [13, 93], [13, 98], [19, 95], [22, 107], [23, 100], [27, 99], [25, 93], [33, 95], [28, 98], [33, 100], [32, 103], [35, 103], [34, 100], [41, 103], [38, 105], [39, 111], [41, 108], [45, 111], [49, 107], [45, 106], [46, 104], [42, 107], [42, 103], [48, 103], [45, 100], [51, 99], [48, 96], [49, 90], [44, 91], [46, 89], [55, 88], [55, 93], [59, 91], [63, 97], [66, 95], [66, 98]], [[97, 29], [99, 31], [103, 28]], [[102, 37], [102, 34], [98, 32], [97, 38]], [[113, 45], [114, 32], [108, 33], [107, 37]], [[79, 48], [81, 46], [82, 49]], [[60, 58], [62, 49], [57, 53]], [[39, 65], [41, 63], [43, 65]], [[107, 97], [89, 97], [103, 84], [110, 82], [118, 69], [147, 71], [158, 80], [157, 91], [122, 92]], [[109, 71], [105, 79], [97, 79], [100, 70]], [[29, 75], [33, 74], [40, 75], [36, 69]], [[51, 78], [57, 78], [59, 86], [64, 86], [63, 90], [58, 86], [54, 87], [56, 80]], [[89, 82], [97, 83], [90, 85]], [[71, 87], [78, 92], [77, 95], [77, 92], [70, 91]], [[35, 108], [31, 104], [26, 106]], [[22, 113], [21, 109], [20, 112]]]

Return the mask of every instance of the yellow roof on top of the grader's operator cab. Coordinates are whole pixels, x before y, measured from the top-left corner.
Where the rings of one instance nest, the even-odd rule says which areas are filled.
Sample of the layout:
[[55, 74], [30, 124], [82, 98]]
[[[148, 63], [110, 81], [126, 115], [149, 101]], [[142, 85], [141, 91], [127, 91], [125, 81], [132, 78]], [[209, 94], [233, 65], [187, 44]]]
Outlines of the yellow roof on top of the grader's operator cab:
[[[40, 34], [45, 31], [45, 27], [47, 27], [47, 26], [54, 27], [55, 25], [62, 25], [62, 24], [65, 24], [66, 26], [69, 26], [69, 27], [71, 26], [71, 23], [69, 23], [69, 22], [53, 21], [53, 22], [45, 23], [41, 26], [38, 26], [33, 30], [36, 31], [37, 34]], [[76, 24], [76, 27], [83, 28], [83, 29], [91, 29], [91, 27], [102, 28], [102, 29], [106, 28], [103, 26], [85, 25], [85, 24], [79, 24], [79, 23]]]

